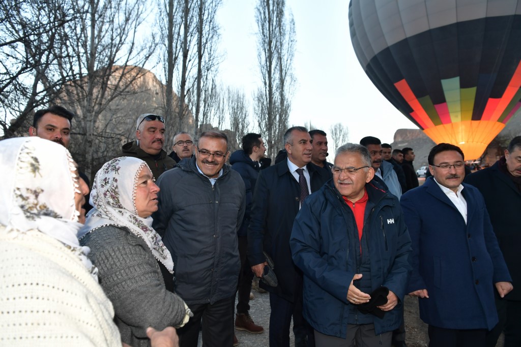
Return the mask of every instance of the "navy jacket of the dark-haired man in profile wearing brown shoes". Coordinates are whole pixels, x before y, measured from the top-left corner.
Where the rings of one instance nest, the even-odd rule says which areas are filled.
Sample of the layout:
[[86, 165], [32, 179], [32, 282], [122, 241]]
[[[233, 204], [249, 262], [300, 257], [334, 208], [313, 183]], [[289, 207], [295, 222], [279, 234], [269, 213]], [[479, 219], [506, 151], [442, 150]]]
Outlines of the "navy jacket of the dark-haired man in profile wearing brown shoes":
[[252, 210], [253, 191], [255, 190], [255, 183], [257, 182], [259, 171], [261, 171], [261, 166], [258, 162], [253, 161], [242, 149], [232, 153], [230, 164], [231, 168], [241, 175], [246, 188], [246, 210], [244, 211], [244, 219], [238, 232], [239, 236], [246, 236], [251, 219], [250, 211]]

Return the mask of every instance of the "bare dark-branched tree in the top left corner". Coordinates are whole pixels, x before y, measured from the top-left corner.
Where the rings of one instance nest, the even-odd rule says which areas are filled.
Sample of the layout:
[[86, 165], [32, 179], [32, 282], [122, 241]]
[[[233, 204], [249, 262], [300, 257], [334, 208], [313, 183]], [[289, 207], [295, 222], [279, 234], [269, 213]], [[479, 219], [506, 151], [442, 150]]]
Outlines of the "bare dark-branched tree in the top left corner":
[[56, 74], [58, 30], [77, 17], [70, 0], [0, 2], [0, 127], [21, 135], [35, 108], [48, 104], [70, 80]]

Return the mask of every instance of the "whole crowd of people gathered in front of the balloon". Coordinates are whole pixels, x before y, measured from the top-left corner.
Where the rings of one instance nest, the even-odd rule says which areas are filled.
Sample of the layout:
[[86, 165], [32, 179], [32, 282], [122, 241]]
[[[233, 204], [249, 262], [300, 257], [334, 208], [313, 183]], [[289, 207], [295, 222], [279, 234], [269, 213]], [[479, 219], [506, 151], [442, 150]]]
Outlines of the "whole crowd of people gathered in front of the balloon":
[[0, 142], [0, 344], [237, 345], [265, 331], [257, 277], [271, 347], [291, 326], [295, 346], [406, 346], [407, 294], [430, 347], [521, 345], [521, 136], [470, 175], [438, 144], [420, 186], [414, 150], [374, 136], [330, 163], [327, 134], [293, 126], [271, 165], [255, 133], [230, 153], [220, 131], [181, 132], [167, 154], [146, 113], [89, 187], [72, 120], [43, 109]]

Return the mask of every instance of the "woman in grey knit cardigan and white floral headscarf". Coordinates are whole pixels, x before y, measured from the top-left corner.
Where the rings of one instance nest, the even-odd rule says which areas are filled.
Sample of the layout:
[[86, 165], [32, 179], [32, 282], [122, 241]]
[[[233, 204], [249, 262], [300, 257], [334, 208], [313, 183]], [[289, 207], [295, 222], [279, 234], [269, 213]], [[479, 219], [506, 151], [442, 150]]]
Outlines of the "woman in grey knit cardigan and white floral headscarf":
[[151, 227], [158, 191], [143, 160], [110, 160], [94, 178], [94, 209], [79, 235], [81, 244], [90, 247], [100, 284], [114, 304], [121, 340], [134, 347], [150, 345], [148, 326], [179, 327], [191, 314], [173, 293], [172, 257]]

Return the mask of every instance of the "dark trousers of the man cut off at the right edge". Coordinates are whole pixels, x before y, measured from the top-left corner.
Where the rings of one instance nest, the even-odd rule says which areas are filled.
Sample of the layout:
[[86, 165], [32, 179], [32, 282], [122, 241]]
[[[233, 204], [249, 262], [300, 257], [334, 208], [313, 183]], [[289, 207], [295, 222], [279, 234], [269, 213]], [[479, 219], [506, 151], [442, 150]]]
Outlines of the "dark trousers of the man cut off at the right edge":
[[487, 332], [487, 347], [495, 347], [501, 332], [505, 333], [504, 347], [521, 346], [521, 301], [501, 299], [495, 292], [495, 306], [499, 323]]

